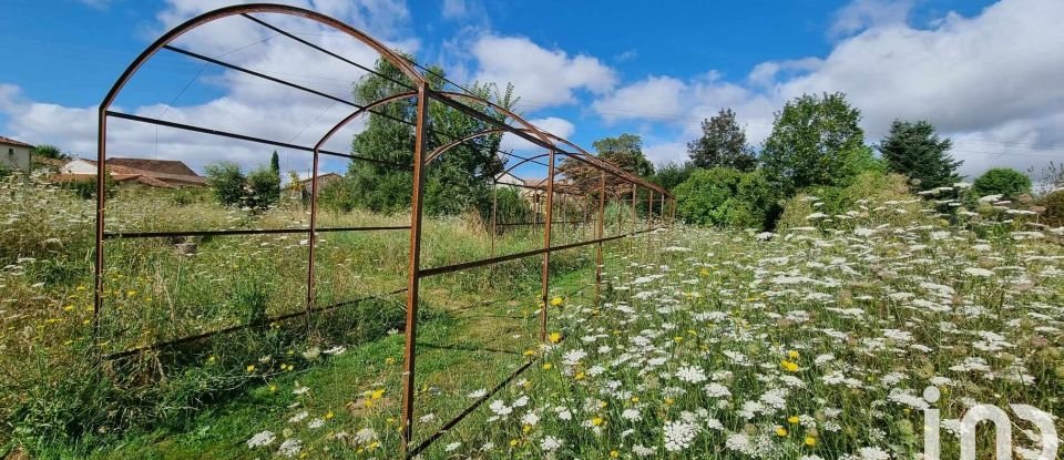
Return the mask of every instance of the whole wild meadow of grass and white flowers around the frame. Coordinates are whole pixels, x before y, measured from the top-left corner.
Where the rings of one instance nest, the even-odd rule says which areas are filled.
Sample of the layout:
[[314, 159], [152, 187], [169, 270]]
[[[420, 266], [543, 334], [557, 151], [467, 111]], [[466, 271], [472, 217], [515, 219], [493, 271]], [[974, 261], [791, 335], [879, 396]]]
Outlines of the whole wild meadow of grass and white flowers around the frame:
[[[2, 194], [7, 450], [100, 459], [399, 452], [402, 303], [386, 293], [405, 278], [405, 232], [326, 237], [319, 305], [377, 298], [100, 370], [85, 323], [91, 205], [13, 182]], [[806, 202], [776, 234], [678, 226], [611, 242], [601, 298], [591, 247], [555, 255], [548, 344], [536, 337], [538, 258], [434, 278], [422, 288], [416, 440], [483, 403], [420, 454], [913, 458], [933, 406], [942, 458], [956, 458], [959, 418], [975, 403], [1064, 415], [1058, 231], [1032, 231], [1023, 214], [951, 223], [918, 197], [861, 201], [838, 215]], [[119, 209], [144, 209], [124, 217], [124, 229], [297, 226], [304, 216], [144, 194], [120, 197]], [[470, 221], [432, 221], [424, 265], [485, 256], [485, 234]], [[586, 232], [563, 227], [556, 242]], [[202, 241], [194, 257], [173, 243], [115, 243], [113, 309], [102, 324], [109, 351], [300, 305], [298, 236]], [[498, 251], [541, 243], [516, 231]], [[927, 387], [941, 393], [933, 405], [921, 397]], [[1013, 431], [1016, 453], [1036, 458], [1039, 431], [1022, 421]], [[989, 452], [991, 437], [979, 438]]]

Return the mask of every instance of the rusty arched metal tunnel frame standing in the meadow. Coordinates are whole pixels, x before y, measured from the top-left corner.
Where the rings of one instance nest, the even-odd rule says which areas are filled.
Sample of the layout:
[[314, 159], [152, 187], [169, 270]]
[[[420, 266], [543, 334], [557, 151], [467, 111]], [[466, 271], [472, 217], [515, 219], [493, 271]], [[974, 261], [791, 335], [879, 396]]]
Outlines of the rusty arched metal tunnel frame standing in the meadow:
[[[408, 79], [411, 83], [396, 81], [393, 79], [387, 78], [377, 73], [371, 67], [351, 61], [348, 58], [345, 58], [338, 53], [335, 53], [328, 49], [325, 49], [316, 43], [307, 41], [296, 34], [285, 31], [284, 29], [276, 27], [264, 19], [259, 18], [256, 14], [282, 14], [282, 16], [291, 16], [304, 18], [310, 21], [315, 21], [324, 27], [329, 27], [336, 29], [337, 31], [350, 37], [351, 39], [365, 44], [376, 51], [380, 59], [387, 60], [389, 63], [395, 65]], [[348, 101], [342, 98], [337, 98], [335, 95], [328, 94], [327, 92], [315, 90], [307, 85], [296, 84], [285, 79], [278, 78], [276, 75], [269, 75], [265, 72], [255, 71], [252, 69], [246, 69], [233, 63], [222, 61], [219, 58], [211, 58], [201, 53], [197, 53], [193, 50], [187, 50], [173, 45], [172, 43], [177, 38], [183, 34], [213, 21], [228, 18], [228, 17], [243, 17], [263, 28], [266, 28], [278, 35], [286, 37], [289, 40], [294, 40], [298, 43], [301, 43], [313, 50], [321, 52], [323, 54], [341, 60], [364, 72], [369, 72], [377, 74], [382, 78], [399, 84], [408, 91], [396, 93], [382, 98], [378, 101], [374, 101], [366, 105], [359, 105], [351, 101]], [[221, 130], [214, 130], [208, 126], [198, 126], [191, 124], [176, 123], [172, 121], [152, 119], [142, 115], [135, 115], [130, 113], [122, 113], [119, 111], [112, 111], [111, 106], [114, 103], [117, 95], [125, 88], [126, 83], [137, 73], [143, 64], [149, 62], [156, 53], [160, 51], [173, 52], [188, 59], [194, 59], [205, 63], [214, 64], [227, 69], [233, 72], [239, 72], [242, 74], [250, 75], [260, 80], [269, 81], [272, 83], [278, 84], [280, 86], [300, 91], [307, 94], [313, 94], [326, 100], [329, 100], [334, 103], [340, 103], [354, 108], [355, 110], [348, 115], [340, 119], [329, 131], [324, 133], [318, 142], [314, 146], [297, 145], [291, 142], [280, 142], [277, 140], [264, 139], [252, 136], [242, 133], [225, 132]], [[383, 295], [397, 295], [406, 293], [406, 345], [403, 351], [403, 367], [402, 367], [402, 418], [401, 418], [401, 431], [402, 431], [402, 454], [406, 457], [412, 457], [423, 449], [426, 449], [431, 442], [439, 439], [443, 433], [461, 421], [466, 416], [471, 413], [484, 399], [473, 402], [466, 410], [463, 410], [458, 417], [450, 420], [443, 425], [443, 429], [432, 433], [423, 442], [418, 446], [411, 446], [413, 441], [413, 412], [416, 408], [416, 359], [417, 359], [417, 333], [418, 333], [418, 306], [420, 304], [420, 283], [421, 279], [426, 277], [444, 275], [448, 273], [456, 273], [460, 270], [471, 269], [475, 267], [483, 266], [494, 266], [497, 264], [514, 260], [524, 257], [541, 256], [541, 276], [540, 276], [540, 324], [539, 324], [539, 338], [541, 341], [546, 339], [546, 327], [549, 320], [549, 296], [550, 290], [550, 267], [551, 267], [551, 255], [554, 252], [567, 251], [572, 248], [595, 245], [595, 298], [597, 299], [601, 293], [601, 283], [602, 283], [602, 269], [603, 269], [603, 245], [604, 243], [617, 241], [621, 238], [631, 237], [641, 233], [652, 232], [656, 227], [654, 226], [655, 217], [655, 194], [659, 198], [657, 219], [662, 225], [669, 225], [673, 222], [673, 215], [676, 209], [676, 203], [673, 196], [668, 191], [662, 188], [661, 186], [647, 182], [646, 180], [638, 177], [627, 171], [621, 170], [617, 166], [614, 166], [611, 163], [607, 163], [597, 156], [589, 153], [579, 145], [562, 139], [552, 133], [545, 132], [535, 125], [525, 121], [521, 115], [513, 113], [507, 108], [500, 106], [492, 103], [491, 101], [484, 100], [477, 95], [462, 93], [462, 92], [451, 92], [451, 91], [440, 91], [429, 85], [429, 79], [426, 78], [422, 71], [428, 72], [427, 69], [417, 64], [416, 62], [408, 60], [402, 54], [390, 50], [382, 42], [377, 41], [372, 37], [339, 21], [337, 19], [330, 18], [328, 16], [317, 13], [310, 10], [306, 10], [298, 7], [280, 6], [280, 4], [265, 4], [265, 3], [252, 3], [252, 4], [239, 4], [225, 7], [217, 10], [213, 10], [206, 13], [203, 13], [198, 17], [190, 19], [180, 25], [173, 28], [172, 30], [165, 32], [162, 37], [155, 40], [151, 45], [145, 48], [122, 72], [122, 74], [115, 80], [106, 95], [103, 98], [99, 106], [98, 112], [98, 137], [96, 137], [96, 217], [95, 217], [95, 251], [94, 251], [94, 264], [93, 264], [93, 282], [94, 282], [94, 293], [93, 293], [93, 315], [92, 315], [92, 340], [93, 347], [96, 350], [96, 356], [99, 359], [120, 359], [142, 352], [158, 350], [163, 348], [173, 347], [181, 345], [187, 341], [202, 340], [213, 335], [226, 334], [234, 330], [244, 329], [252, 327], [254, 325], [236, 325], [231, 326], [221, 330], [198, 334], [194, 336], [182, 337], [168, 341], [156, 343], [144, 347], [137, 347], [133, 349], [127, 349], [119, 351], [111, 355], [104, 355], [101, 352], [101, 311], [104, 307], [104, 272], [105, 272], [105, 242], [111, 239], [126, 239], [126, 238], [158, 238], [158, 237], [175, 237], [175, 236], [244, 236], [244, 235], [268, 235], [268, 234], [307, 234], [308, 235], [308, 260], [307, 260], [307, 293], [306, 293], [306, 305], [303, 311], [290, 313], [282, 315], [269, 320], [287, 320], [304, 316], [307, 319], [309, 326], [310, 317], [315, 311], [324, 311], [328, 309], [341, 308], [346, 305], [362, 301], [365, 299], [371, 298], [362, 297], [359, 299], [338, 303], [328, 306], [323, 306], [320, 308], [315, 308], [315, 257], [316, 257], [316, 243], [319, 233], [327, 232], [371, 232], [371, 231], [409, 231], [410, 236], [410, 246], [408, 255], [408, 279], [407, 285], [402, 288], [392, 290], [390, 293], [385, 293]], [[354, 80], [354, 79], [352, 79]], [[444, 81], [447, 81], [444, 79]], [[450, 82], [450, 81], [447, 81]], [[461, 85], [450, 82], [458, 88]], [[464, 89], [463, 89], [464, 90]], [[378, 111], [379, 108], [393, 103], [397, 101], [403, 100], [413, 100], [416, 102], [416, 115], [415, 120], [403, 120], [398, 119], [386, 113]], [[431, 152], [427, 151], [429, 147], [429, 132], [431, 126], [429, 125], [429, 104], [439, 103], [444, 105], [450, 110], [456, 110], [475, 119], [480, 122], [491, 125], [492, 127], [483, 130], [475, 133], [441, 133], [438, 131], [432, 131], [436, 134], [442, 134], [443, 136], [450, 139], [451, 141], [433, 149]], [[477, 109], [472, 105], [473, 104]], [[495, 114], [491, 116], [483, 112], [483, 110], [490, 110]], [[378, 116], [385, 116], [392, 121], [400, 123], [406, 123], [413, 126], [415, 134], [415, 145], [413, 145], [413, 161], [412, 164], [400, 164], [396, 162], [382, 161], [374, 157], [366, 157], [362, 155], [357, 155], [354, 153], [344, 153], [344, 152], [332, 152], [326, 151], [323, 146], [339, 132], [344, 126], [348, 125], [351, 121], [358, 119], [359, 116], [365, 116], [367, 114], [375, 114]], [[131, 122], [147, 123], [165, 127], [171, 127], [175, 130], [183, 130], [188, 132], [195, 132], [206, 135], [222, 136], [228, 139], [235, 139], [245, 142], [254, 142], [265, 145], [280, 146], [284, 149], [304, 151], [308, 152], [311, 156], [311, 178], [310, 178], [310, 223], [307, 228], [241, 228], [241, 229], [211, 229], [211, 231], [170, 231], [170, 232], [108, 232], [105, 227], [105, 215], [104, 209], [106, 207], [106, 193], [105, 193], [105, 183], [106, 183], [106, 153], [108, 153], [108, 120], [109, 119], [119, 119]], [[471, 142], [478, 137], [488, 136], [488, 135], [515, 135], [528, 142], [531, 142], [533, 145], [544, 149], [545, 153], [532, 155], [532, 156], [520, 156], [512, 153], [501, 156], [503, 161], [503, 172], [491, 177], [493, 183], [492, 192], [492, 213], [491, 213], [491, 256], [488, 258], [482, 258], [478, 260], [469, 260], [458, 264], [451, 264], [446, 266], [438, 267], [422, 267], [421, 266], [421, 235], [422, 235], [422, 203], [423, 203], [423, 178], [426, 174], [426, 168], [430, 167], [430, 163], [440, 157], [441, 155], [447, 154], [448, 151]], [[396, 167], [396, 168], [406, 168], [412, 171], [412, 195], [411, 195], [411, 212], [410, 212], [410, 224], [409, 225], [397, 225], [397, 226], [365, 226], [365, 227], [318, 227], [318, 173], [319, 173], [319, 159], [321, 155], [337, 156], [349, 159], [350, 161], [365, 161], [380, 164], [383, 166]], [[601, 172], [598, 177], [591, 177], [580, 184], [569, 183], [566, 181], [560, 180], [557, 172], [557, 161], [559, 157], [572, 159], [577, 162], [582, 162], [594, 170]], [[545, 161], [544, 161], [545, 159]], [[515, 163], [509, 164], [510, 160], [516, 160]], [[526, 164], [536, 164], [546, 167], [548, 176], [541, 184], [505, 184], [499, 182], [505, 175], [512, 175], [516, 177], [514, 171]], [[632, 186], [632, 198], [631, 198], [631, 213], [632, 213], [632, 227], [630, 229], [621, 228], [620, 234], [607, 236], [604, 234], [605, 227], [605, 207], [608, 203], [607, 194], [614, 197], [622, 205], [627, 203], [627, 198], [618, 190], [608, 190], [606, 186], [607, 176], [614, 177], [618, 181], [620, 184], [630, 184]], [[597, 181], [597, 190], [593, 190], [590, 183], [592, 181]], [[533, 213], [532, 223], [499, 223], [497, 221], [497, 192], [501, 186], [519, 186], [524, 188], [531, 188], [534, 191], [534, 196], [536, 197], [535, 206], [536, 209]], [[587, 187], [584, 190], [584, 187]], [[638, 188], [643, 187], [648, 192], [647, 198], [647, 213], [646, 213], [646, 226], [638, 228], [637, 225], [637, 206], [636, 200], [638, 197]], [[540, 214], [540, 193], [543, 195], [543, 211], [544, 216], [543, 221], [539, 222]], [[563, 213], [563, 218], [561, 222], [554, 221], [554, 207], [555, 207], [555, 196], [561, 196], [561, 212]], [[580, 221], [565, 222], [567, 219], [569, 213], [566, 212], [566, 200], [565, 196], [571, 197], [582, 197], [583, 204], [580, 205], [580, 212], [583, 215], [583, 218]], [[597, 206], [595, 212], [597, 216], [594, 217], [593, 222], [595, 224], [594, 228], [594, 238], [590, 241], [580, 241], [574, 243], [566, 244], [553, 244], [552, 242], [552, 231], [554, 229], [554, 224], [570, 224], [570, 223], [580, 223], [585, 226], [592, 221], [590, 219], [590, 207], [592, 207], [592, 200], [597, 201]], [[671, 205], [671, 209], [667, 213], [666, 209]], [[618, 224], [624, 221], [622, 215], [618, 214]], [[535, 227], [542, 224], [543, 232], [543, 243], [542, 248], [525, 251], [515, 254], [508, 255], [497, 255], [494, 238], [495, 233], [501, 226], [516, 226], [516, 225], [531, 225], [533, 231]], [[586, 235], [586, 232], [582, 233]], [[523, 372], [525, 369], [531, 368], [531, 361], [525, 362], [525, 365], [519, 368], [513, 375], [508, 377], [505, 380], [500, 382], [492, 392], [498, 391], [503, 386], [505, 386], [513, 377]]]

